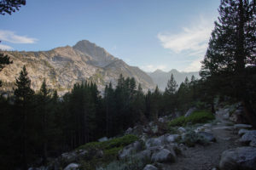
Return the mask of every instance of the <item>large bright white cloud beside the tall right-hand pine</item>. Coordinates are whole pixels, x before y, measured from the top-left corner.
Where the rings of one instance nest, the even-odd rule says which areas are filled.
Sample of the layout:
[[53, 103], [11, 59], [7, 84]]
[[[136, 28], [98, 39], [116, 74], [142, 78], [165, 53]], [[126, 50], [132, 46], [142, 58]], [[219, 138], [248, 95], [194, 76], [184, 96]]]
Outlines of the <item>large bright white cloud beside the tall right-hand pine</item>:
[[163, 48], [170, 49], [175, 54], [196, 58], [184, 71], [199, 71], [213, 26], [213, 20], [201, 16], [197, 22], [183, 27], [177, 34], [160, 32], [157, 37]]

